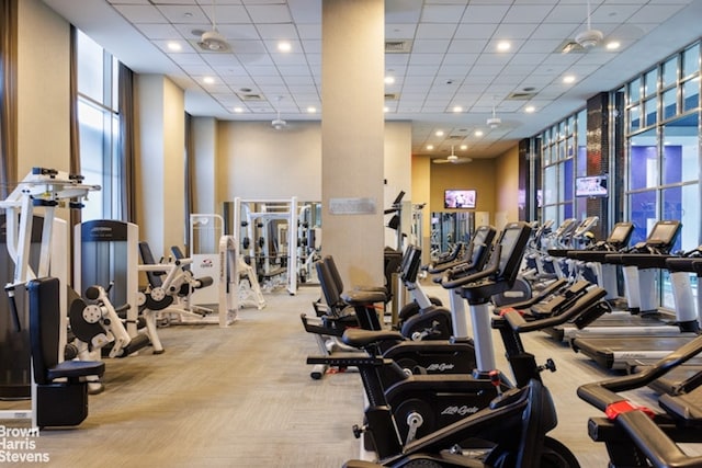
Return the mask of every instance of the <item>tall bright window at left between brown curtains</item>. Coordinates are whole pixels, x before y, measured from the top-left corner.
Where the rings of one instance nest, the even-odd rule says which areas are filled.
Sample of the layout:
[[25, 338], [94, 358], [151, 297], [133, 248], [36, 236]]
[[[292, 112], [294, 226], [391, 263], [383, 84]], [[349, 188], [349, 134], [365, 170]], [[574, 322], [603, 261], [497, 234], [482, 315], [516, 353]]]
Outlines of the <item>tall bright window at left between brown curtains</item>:
[[86, 183], [99, 184], [82, 210], [83, 219], [118, 214], [120, 186], [115, 180], [118, 141], [117, 60], [78, 32], [78, 121], [80, 165]]

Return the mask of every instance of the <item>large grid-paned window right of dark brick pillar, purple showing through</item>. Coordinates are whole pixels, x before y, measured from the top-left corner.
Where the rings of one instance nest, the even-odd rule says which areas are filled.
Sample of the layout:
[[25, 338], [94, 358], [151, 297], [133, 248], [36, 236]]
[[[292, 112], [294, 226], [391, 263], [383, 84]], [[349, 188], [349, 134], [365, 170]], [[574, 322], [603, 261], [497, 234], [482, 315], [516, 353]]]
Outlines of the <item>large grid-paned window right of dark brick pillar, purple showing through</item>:
[[[646, 238], [659, 219], [682, 222], [673, 251], [702, 242], [700, 201], [700, 43], [629, 81], [625, 94], [629, 218], [632, 242]], [[693, 276], [693, 275], [692, 275]], [[697, 277], [692, 277], [697, 293]], [[660, 304], [672, 308], [668, 274]]]

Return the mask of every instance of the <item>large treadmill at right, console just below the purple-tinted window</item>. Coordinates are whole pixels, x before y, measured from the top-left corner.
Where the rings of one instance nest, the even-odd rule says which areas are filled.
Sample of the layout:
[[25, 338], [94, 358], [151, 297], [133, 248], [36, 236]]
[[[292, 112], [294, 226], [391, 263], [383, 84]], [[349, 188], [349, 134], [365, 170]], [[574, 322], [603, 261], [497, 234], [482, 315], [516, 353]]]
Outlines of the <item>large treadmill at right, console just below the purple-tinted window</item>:
[[[642, 310], [653, 310], [654, 271], [668, 269], [666, 261], [673, 256], [667, 252], [679, 236], [680, 226], [680, 222], [675, 220], [658, 221], [644, 246], [636, 246], [637, 252], [605, 255], [608, 262], [620, 263], [625, 273], [629, 273], [626, 286], [630, 290], [646, 292], [645, 295], [639, 296]], [[635, 332], [635, 328], [622, 329], [634, 333], [627, 335], [618, 333], [616, 326], [602, 328], [598, 334], [591, 330], [588, 333], [580, 332], [576, 333], [576, 338], [571, 340], [573, 349], [589, 356], [601, 367], [631, 370], [637, 366], [655, 363], [697, 336], [699, 317], [691, 294], [690, 274], [671, 270], [670, 277], [677, 317], [673, 326], [658, 333], [650, 332], [646, 327], [641, 327], [638, 333]]]

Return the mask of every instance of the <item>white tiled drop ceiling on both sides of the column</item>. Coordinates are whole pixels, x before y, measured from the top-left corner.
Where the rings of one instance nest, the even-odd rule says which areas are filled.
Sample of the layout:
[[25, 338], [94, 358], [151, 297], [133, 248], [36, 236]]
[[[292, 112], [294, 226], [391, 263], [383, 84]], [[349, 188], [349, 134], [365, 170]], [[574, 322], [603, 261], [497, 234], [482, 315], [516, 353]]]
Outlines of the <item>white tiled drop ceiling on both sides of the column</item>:
[[[101, 11], [94, 18], [87, 18], [83, 2], [43, 1], [78, 27], [100, 31], [97, 37], [103, 45], [136, 72], [159, 72], [151, 65], [157, 60], [147, 67], [138, 56], [148, 46], [154, 54], [160, 50], [168, 64], [162, 72], [186, 89], [186, 109], [212, 105], [196, 101], [204, 95], [220, 103], [212, 111], [217, 118], [271, 119], [275, 114], [270, 101], [282, 95], [280, 107], [288, 122], [319, 118], [306, 109], [321, 107], [321, 0], [216, 0], [214, 10], [212, 0], [114, 0], [114, 8], [91, 0], [91, 11]], [[694, 41], [702, 18], [699, 0], [591, 0], [592, 27], [621, 41], [622, 48], [563, 55], [556, 48], [587, 27], [582, 0], [386, 0], [385, 5], [386, 39], [414, 41], [411, 53], [385, 56], [385, 71], [396, 78], [385, 90], [398, 95], [386, 102], [386, 118], [412, 122], [415, 148], [424, 127], [451, 132], [449, 127], [461, 125], [469, 128], [473, 140], [473, 132], [483, 129], [480, 142], [471, 144], [476, 157], [480, 148], [494, 151], [509, 146], [510, 138], [541, 130], [548, 125], [545, 119], [561, 118], [585, 105], [591, 93], [648, 67], [654, 55], [665, 58]], [[686, 11], [677, 14], [680, 8]], [[668, 18], [671, 26], [661, 26]], [[213, 27], [213, 19], [230, 53], [203, 53], [194, 45]], [[120, 27], [112, 37], [114, 24]], [[131, 41], [125, 41], [125, 31], [133, 31]], [[291, 41], [293, 53], [278, 52], [279, 39]], [[496, 45], [502, 39], [511, 39], [512, 47], [498, 54]], [[168, 52], [171, 41], [181, 43], [182, 53]], [[205, 72], [213, 73], [214, 85], [203, 84]], [[563, 83], [564, 73], [575, 75], [576, 82]], [[526, 101], [506, 98], [529, 87], [537, 93], [529, 101], [537, 111], [525, 115]], [[268, 101], [241, 103], [237, 93], [245, 88]], [[488, 132], [485, 119], [495, 102], [505, 125]], [[246, 112], [234, 114], [237, 105]], [[454, 114], [454, 105], [464, 113]]]

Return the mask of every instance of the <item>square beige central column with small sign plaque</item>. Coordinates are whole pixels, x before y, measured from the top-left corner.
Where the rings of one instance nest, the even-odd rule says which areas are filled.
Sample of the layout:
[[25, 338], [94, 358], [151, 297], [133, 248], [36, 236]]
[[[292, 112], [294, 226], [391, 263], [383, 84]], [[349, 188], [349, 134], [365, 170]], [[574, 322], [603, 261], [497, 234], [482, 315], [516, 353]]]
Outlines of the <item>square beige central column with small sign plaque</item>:
[[382, 284], [384, 0], [322, 0], [322, 253], [347, 286]]

